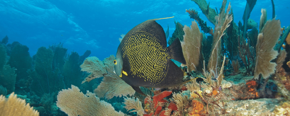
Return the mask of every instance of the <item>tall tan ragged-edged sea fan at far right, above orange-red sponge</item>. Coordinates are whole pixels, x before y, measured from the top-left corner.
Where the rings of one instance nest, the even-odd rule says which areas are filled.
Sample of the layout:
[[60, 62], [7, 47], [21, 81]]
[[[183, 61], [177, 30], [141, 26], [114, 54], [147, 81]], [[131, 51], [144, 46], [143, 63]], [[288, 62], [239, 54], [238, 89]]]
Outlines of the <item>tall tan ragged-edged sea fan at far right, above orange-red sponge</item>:
[[281, 22], [275, 19], [267, 21], [259, 33], [256, 45], [255, 79], [259, 78], [259, 74], [262, 74], [264, 79], [267, 79], [271, 74], [275, 73], [277, 64], [270, 61], [278, 55], [278, 51], [274, 50], [273, 47], [278, 41], [280, 34]]

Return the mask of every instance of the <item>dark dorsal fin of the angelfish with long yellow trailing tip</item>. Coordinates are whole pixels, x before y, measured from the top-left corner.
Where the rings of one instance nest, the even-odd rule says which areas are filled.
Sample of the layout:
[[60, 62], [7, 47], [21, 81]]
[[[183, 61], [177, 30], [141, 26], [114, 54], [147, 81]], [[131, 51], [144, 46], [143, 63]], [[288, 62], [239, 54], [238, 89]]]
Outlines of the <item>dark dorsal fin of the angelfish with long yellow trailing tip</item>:
[[[166, 44], [167, 41], [166, 41], [165, 32], [164, 32], [162, 26], [160, 26], [156, 22], [156, 20], [168, 19], [168, 18], [172, 18], [172, 17], [159, 18], [159, 19], [150, 19], [150, 20], [144, 21], [144, 22], [138, 24], [137, 26], [135, 26], [133, 29], [131, 29], [128, 32], [128, 34], [134, 33], [134, 32], [137, 32], [137, 31], [142, 31], [144, 33], [151, 34], [153, 37], [155, 37], [155, 39], [158, 41], [158, 43], [160, 43], [162, 46], [166, 47], [167, 46], [167, 44]], [[126, 39], [126, 36], [124, 38]]]

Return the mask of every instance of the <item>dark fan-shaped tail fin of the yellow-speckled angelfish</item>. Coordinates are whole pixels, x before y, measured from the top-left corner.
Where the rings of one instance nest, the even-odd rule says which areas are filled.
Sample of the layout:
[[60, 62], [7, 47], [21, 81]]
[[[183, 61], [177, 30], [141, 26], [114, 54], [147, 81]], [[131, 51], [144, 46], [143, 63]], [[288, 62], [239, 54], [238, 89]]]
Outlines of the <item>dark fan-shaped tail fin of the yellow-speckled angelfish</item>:
[[182, 64], [186, 64], [186, 61], [183, 56], [182, 47], [180, 40], [176, 38], [173, 43], [168, 46], [169, 52], [172, 55], [171, 59], [179, 61]]

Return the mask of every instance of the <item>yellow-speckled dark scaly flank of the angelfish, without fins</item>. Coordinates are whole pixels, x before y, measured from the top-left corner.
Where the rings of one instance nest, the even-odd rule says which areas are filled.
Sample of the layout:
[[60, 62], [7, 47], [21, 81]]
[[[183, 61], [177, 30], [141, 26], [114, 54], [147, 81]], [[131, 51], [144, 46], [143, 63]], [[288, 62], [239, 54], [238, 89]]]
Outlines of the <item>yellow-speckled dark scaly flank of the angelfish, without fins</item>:
[[160, 84], [167, 74], [168, 49], [152, 34], [137, 30], [128, 36], [122, 47], [128, 57], [133, 78], [142, 78], [152, 85]]

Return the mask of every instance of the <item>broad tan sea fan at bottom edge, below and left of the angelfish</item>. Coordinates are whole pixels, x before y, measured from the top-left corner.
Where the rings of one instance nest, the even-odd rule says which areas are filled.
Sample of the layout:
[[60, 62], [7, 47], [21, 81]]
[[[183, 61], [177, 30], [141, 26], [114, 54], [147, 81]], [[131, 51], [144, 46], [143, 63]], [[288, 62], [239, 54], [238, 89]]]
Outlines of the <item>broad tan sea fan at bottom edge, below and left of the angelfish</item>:
[[115, 111], [111, 104], [100, 100], [94, 93], [87, 91], [84, 95], [79, 91], [73, 85], [61, 90], [57, 95], [57, 107], [69, 116], [124, 116], [124, 113]]

